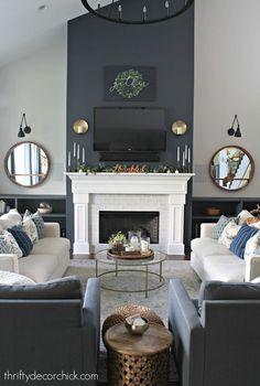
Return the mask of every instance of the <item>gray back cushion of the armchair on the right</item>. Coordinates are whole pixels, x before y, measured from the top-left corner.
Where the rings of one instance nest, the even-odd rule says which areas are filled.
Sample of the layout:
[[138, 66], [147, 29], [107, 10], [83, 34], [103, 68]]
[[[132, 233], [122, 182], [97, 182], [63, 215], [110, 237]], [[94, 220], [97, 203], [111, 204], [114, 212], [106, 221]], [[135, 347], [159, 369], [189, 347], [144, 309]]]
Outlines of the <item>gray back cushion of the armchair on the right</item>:
[[204, 300], [260, 300], [260, 283], [204, 281], [198, 296], [198, 310]]

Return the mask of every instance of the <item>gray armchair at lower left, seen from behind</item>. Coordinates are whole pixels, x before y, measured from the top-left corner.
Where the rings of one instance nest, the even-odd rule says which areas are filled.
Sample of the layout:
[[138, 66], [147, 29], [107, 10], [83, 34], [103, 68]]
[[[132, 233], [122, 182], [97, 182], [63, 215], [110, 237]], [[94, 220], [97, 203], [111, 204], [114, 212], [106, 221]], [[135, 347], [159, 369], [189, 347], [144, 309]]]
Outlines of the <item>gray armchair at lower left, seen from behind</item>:
[[[88, 279], [84, 300], [75, 278], [0, 286], [0, 385], [22, 385], [21, 377], [11, 380], [20, 371], [51, 374], [51, 382], [32, 380], [29, 385], [97, 385], [89, 377], [97, 374], [99, 323], [98, 279]], [[66, 380], [67, 373], [85, 376]], [[55, 379], [57, 375], [59, 379]]]

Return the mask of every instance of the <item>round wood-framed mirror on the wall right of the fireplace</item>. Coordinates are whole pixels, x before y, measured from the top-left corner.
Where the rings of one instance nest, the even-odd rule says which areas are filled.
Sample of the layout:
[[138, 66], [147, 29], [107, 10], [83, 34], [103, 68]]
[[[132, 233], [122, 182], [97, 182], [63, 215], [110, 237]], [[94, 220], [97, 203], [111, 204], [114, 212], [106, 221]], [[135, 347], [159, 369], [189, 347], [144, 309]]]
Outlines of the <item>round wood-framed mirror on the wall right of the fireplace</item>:
[[254, 162], [247, 150], [239, 146], [225, 146], [217, 150], [209, 162], [209, 175], [220, 189], [238, 191], [249, 184]]

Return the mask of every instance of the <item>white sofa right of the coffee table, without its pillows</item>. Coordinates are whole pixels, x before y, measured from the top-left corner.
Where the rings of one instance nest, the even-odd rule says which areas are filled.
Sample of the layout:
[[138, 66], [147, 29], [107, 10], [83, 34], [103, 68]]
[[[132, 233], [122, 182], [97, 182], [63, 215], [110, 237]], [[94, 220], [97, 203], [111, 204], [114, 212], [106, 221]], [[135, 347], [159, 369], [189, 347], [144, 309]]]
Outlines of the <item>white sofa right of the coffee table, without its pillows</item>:
[[201, 225], [201, 238], [192, 240], [191, 266], [199, 278], [221, 281], [251, 281], [260, 277], [260, 256], [247, 260], [212, 238], [216, 224]]

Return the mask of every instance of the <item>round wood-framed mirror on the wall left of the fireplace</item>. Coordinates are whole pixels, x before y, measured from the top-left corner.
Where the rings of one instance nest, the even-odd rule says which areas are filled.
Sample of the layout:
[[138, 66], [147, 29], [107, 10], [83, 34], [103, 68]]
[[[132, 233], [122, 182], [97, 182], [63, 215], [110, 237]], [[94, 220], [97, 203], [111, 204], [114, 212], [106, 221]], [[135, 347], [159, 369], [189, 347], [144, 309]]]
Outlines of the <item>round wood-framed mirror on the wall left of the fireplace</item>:
[[4, 169], [9, 179], [24, 187], [43, 183], [50, 172], [51, 161], [46, 150], [39, 143], [15, 143], [7, 153]]

